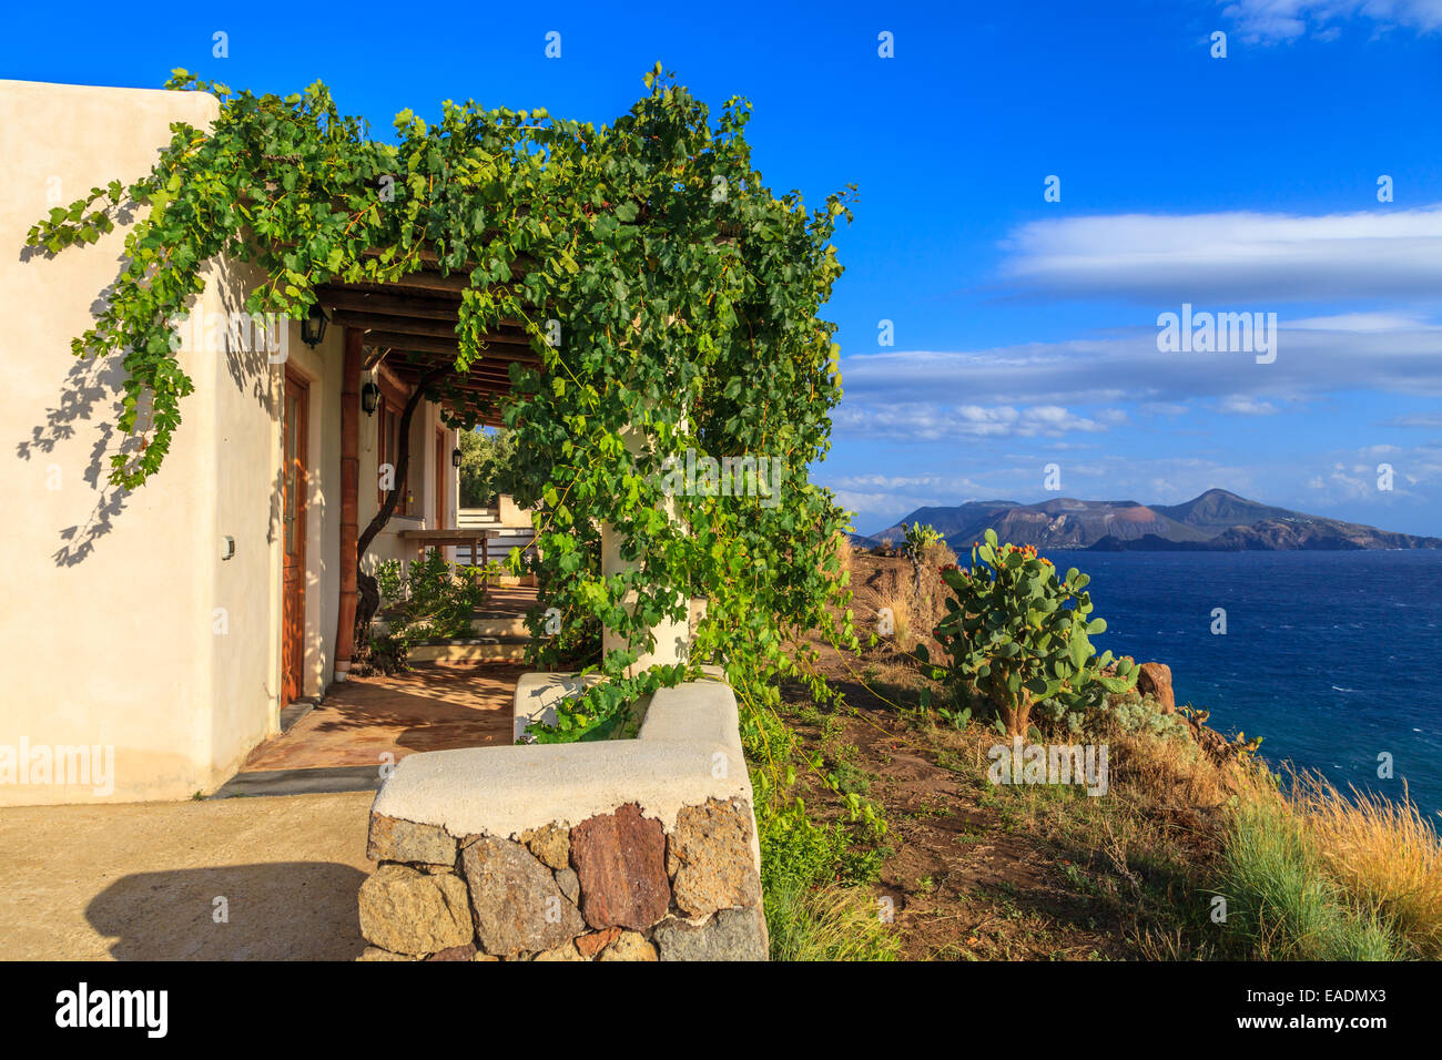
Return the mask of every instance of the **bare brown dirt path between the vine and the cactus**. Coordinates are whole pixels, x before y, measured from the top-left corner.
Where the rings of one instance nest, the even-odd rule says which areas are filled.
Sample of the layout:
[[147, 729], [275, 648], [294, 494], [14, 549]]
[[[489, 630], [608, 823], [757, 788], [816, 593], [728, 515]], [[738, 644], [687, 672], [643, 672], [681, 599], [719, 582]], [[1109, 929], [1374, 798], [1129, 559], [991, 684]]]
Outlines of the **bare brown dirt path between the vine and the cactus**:
[[[901, 558], [854, 554], [852, 607], [862, 643], [875, 629], [877, 609], [891, 603], [897, 578], [910, 578], [910, 570]], [[789, 686], [787, 721], [822, 754], [825, 772], [885, 816], [887, 857], [871, 888], [894, 901], [903, 959], [1156, 956], [1146, 945], [1151, 924], [1138, 913], [1136, 887], [1165, 891], [1168, 881], [1139, 878], [1126, 852], [1071, 826], [1097, 809], [1084, 805], [1086, 796], [989, 785], [983, 746], [995, 737], [908, 714], [919, 682], [894, 643], [861, 658], [820, 639], [812, 648], [818, 669], [844, 694], [844, 708], [818, 710], [803, 688]], [[808, 805], [819, 819], [841, 819], [835, 793], [819, 783], [809, 785]]]

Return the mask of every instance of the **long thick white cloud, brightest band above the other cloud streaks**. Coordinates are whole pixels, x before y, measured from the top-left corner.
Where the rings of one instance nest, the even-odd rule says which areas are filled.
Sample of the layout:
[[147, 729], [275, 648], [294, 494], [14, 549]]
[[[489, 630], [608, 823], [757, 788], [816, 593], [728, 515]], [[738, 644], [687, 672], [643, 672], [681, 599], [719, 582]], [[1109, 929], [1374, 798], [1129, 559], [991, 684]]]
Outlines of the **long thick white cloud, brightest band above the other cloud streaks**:
[[[1438, 0], [1442, 3], [1442, 0]], [[1442, 203], [1324, 216], [1226, 212], [1032, 221], [1002, 244], [1021, 288], [1210, 309], [1325, 299], [1433, 299]], [[1360, 329], [1351, 329], [1360, 330]]]

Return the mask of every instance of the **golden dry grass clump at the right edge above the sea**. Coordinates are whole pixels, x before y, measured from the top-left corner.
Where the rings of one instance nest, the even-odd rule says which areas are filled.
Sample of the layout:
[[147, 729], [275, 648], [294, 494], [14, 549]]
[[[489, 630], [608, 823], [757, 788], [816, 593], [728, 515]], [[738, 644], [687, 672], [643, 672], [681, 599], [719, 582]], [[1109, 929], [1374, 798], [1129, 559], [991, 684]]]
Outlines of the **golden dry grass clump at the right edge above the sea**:
[[1292, 800], [1328, 874], [1419, 956], [1442, 958], [1442, 841], [1416, 803], [1355, 787], [1348, 798], [1317, 774], [1296, 779]]

